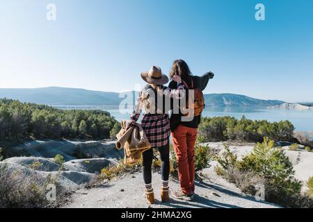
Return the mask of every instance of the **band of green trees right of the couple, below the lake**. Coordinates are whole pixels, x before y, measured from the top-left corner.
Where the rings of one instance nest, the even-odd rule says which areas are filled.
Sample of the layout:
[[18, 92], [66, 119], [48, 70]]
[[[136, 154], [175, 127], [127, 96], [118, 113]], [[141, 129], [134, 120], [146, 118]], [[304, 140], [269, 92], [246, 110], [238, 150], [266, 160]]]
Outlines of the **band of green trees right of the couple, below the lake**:
[[262, 142], [264, 137], [275, 141], [294, 141], [294, 125], [289, 121], [268, 122], [242, 117], [204, 117], [199, 126], [202, 141], [224, 141], [227, 139], [247, 142]]

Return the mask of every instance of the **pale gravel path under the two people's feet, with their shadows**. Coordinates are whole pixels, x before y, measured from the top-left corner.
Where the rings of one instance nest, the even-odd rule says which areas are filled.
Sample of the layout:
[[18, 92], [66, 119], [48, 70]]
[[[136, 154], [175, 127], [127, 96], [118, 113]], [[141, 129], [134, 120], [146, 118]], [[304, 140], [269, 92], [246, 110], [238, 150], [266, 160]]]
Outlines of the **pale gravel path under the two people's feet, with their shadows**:
[[[67, 203], [64, 207], [278, 207], [271, 203], [257, 201], [251, 196], [244, 196], [234, 185], [216, 176], [212, 169], [205, 169], [202, 173], [206, 178], [203, 181], [196, 181], [196, 195], [193, 202], [171, 199], [168, 203], [161, 203], [161, 176], [159, 173], [153, 173], [152, 185], [157, 201], [156, 204], [149, 206], [145, 202], [142, 175], [134, 173], [111, 181], [104, 187], [81, 189], [72, 196], [72, 203]], [[170, 189], [179, 189], [179, 182], [174, 178], [170, 178]]]

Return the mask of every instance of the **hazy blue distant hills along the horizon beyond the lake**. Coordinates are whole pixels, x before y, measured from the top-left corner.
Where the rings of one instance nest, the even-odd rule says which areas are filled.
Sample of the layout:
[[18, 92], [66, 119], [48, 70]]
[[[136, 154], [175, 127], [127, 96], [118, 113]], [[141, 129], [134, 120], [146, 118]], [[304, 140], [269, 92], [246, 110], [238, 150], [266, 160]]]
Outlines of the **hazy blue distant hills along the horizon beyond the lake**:
[[[134, 95], [134, 92], [132, 92]], [[100, 92], [65, 87], [34, 89], [0, 89], [0, 98], [47, 105], [119, 105], [122, 98], [117, 92]], [[284, 101], [254, 99], [238, 94], [205, 94], [207, 105], [259, 105], [274, 106]]]

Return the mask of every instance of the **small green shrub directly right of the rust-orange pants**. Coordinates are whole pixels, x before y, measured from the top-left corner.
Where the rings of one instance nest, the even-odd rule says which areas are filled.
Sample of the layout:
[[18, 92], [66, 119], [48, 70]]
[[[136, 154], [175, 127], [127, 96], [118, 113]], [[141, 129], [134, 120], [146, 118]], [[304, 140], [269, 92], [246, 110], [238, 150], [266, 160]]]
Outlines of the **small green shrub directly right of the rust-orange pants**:
[[195, 171], [209, 167], [211, 157], [209, 146], [195, 146]]

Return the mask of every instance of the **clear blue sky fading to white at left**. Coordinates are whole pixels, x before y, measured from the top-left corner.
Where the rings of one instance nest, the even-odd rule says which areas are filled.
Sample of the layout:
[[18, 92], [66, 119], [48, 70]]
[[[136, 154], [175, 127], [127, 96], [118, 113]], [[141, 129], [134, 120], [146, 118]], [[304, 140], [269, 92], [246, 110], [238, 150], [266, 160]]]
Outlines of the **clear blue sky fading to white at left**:
[[[46, 6], [56, 4], [56, 21]], [[263, 3], [266, 20], [255, 19]], [[186, 60], [205, 93], [313, 101], [310, 0], [0, 0], [0, 87], [121, 92]]]

